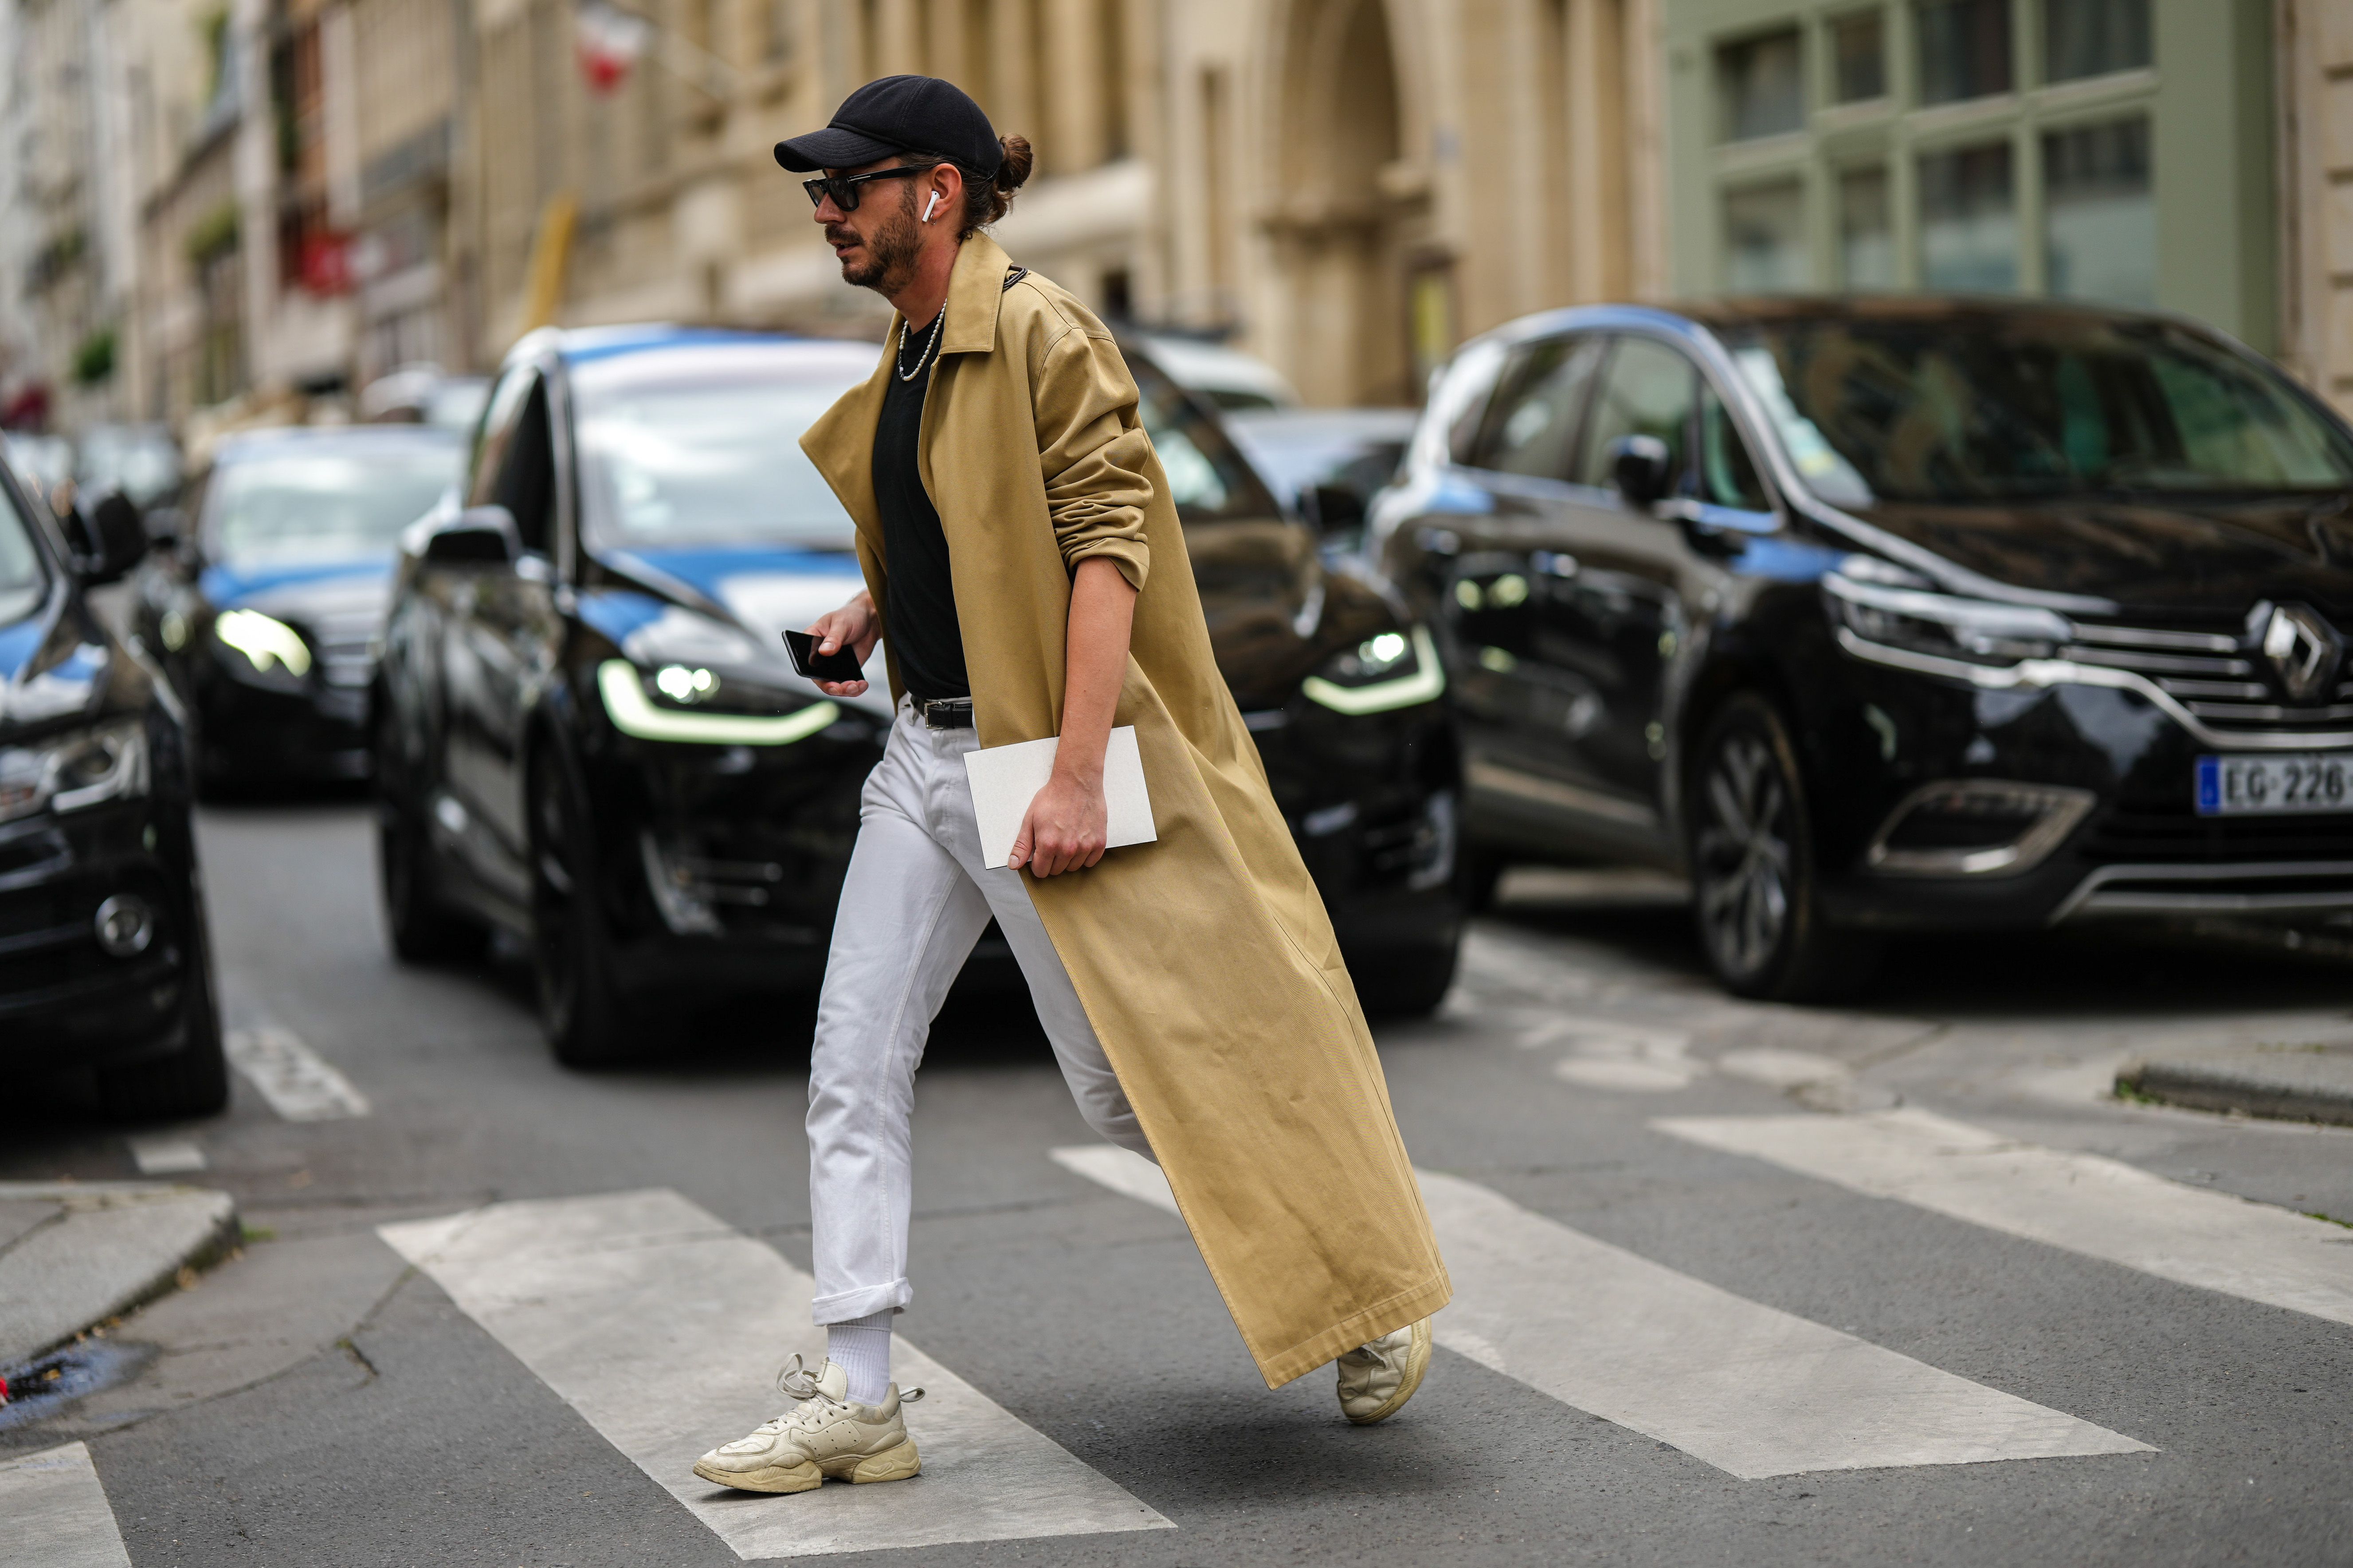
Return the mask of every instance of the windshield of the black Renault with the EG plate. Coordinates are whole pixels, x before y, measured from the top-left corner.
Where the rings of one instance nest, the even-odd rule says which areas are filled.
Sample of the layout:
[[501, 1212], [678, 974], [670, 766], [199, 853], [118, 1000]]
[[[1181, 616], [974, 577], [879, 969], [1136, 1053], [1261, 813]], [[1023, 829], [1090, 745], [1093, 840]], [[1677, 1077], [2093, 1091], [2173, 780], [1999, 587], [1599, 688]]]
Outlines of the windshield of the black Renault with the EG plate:
[[2155, 320], [1760, 322], [1720, 334], [1838, 505], [2353, 484], [2353, 437], [2285, 378]]

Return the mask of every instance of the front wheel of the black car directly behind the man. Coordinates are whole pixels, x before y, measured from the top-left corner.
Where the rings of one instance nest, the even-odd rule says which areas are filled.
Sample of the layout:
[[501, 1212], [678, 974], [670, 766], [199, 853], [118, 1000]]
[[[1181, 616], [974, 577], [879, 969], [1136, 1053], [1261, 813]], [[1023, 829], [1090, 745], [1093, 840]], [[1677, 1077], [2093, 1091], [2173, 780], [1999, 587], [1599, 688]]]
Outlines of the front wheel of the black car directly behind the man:
[[588, 809], [562, 759], [541, 752], [532, 766], [532, 978], [539, 1027], [565, 1067], [621, 1060], [638, 1041], [595, 889]]

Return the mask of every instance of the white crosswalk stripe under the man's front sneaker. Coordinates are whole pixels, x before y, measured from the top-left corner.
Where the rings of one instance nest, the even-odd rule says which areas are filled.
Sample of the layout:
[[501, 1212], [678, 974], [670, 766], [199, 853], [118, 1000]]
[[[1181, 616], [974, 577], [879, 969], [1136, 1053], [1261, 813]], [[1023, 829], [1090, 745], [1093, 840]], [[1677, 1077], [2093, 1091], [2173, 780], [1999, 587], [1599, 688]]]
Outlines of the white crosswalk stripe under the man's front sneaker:
[[922, 1476], [751, 1497], [694, 1460], [776, 1413], [824, 1356], [814, 1281], [675, 1192], [492, 1204], [376, 1229], [741, 1559], [1160, 1530], [1167, 1519], [899, 1340]]

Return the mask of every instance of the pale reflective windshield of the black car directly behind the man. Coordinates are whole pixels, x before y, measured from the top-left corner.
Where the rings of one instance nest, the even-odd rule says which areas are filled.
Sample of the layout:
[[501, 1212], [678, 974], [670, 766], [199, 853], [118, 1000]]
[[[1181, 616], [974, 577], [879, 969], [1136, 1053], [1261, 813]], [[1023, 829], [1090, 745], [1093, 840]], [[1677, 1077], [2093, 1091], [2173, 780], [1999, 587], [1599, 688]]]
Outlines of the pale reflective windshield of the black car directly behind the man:
[[[621, 545], [842, 545], [849, 515], [800, 433], [873, 369], [868, 353], [816, 364], [696, 355], [675, 371], [584, 364], [581, 498], [595, 538]], [[864, 360], [864, 364], [861, 364]]]

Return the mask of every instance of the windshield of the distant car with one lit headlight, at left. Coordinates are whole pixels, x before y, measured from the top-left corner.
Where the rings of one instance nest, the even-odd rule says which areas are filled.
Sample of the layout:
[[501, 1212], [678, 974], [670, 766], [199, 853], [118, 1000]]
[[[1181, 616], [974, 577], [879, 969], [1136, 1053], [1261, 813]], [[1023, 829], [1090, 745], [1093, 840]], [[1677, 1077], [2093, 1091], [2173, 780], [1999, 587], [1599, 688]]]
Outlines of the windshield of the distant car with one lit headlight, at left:
[[381, 555], [456, 484], [456, 440], [384, 440], [224, 458], [207, 531], [224, 559]]

